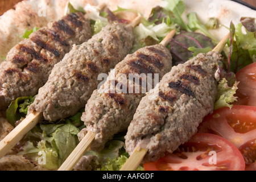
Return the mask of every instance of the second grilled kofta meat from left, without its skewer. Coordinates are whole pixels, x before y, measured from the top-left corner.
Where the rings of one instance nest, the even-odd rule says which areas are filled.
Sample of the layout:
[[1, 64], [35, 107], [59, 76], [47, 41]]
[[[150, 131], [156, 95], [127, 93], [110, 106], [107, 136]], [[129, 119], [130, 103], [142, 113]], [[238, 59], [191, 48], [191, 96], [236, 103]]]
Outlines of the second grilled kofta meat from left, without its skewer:
[[123, 60], [133, 40], [132, 26], [114, 22], [74, 47], [54, 66], [28, 113], [38, 111], [51, 122], [76, 114], [101, 82], [98, 75], [108, 73]]

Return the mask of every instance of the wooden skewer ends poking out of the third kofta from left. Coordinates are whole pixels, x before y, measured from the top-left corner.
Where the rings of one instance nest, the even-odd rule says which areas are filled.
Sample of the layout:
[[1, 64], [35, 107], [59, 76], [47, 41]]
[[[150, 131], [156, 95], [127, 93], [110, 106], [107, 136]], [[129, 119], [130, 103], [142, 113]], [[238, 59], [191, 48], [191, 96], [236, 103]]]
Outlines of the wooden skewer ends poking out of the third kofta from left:
[[[135, 21], [137, 21], [137, 20], [135, 19]], [[174, 37], [175, 34], [176, 34], [176, 30], [172, 30], [166, 36], [166, 38], [164, 38], [162, 40], [162, 42], [160, 44], [162, 44], [163, 46], [167, 46], [167, 44], [170, 42], [170, 39], [172, 37]], [[79, 162], [79, 159], [82, 157], [82, 155], [84, 155], [86, 150], [88, 150], [88, 148], [90, 147], [90, 144], [92, 143], [95, 136], [96, 136], [95, 133], [89, 131], [85, 135], [85, 137], [82, 138], [82, 140], [80, 141], [79, 145], [75, 148], [75, 150], [73, 150], [73, 152], [68, 156], [67, 160], [65, 160], [65, 162], [60, 166], [59, 171], [70, 171], [70, 170], [72, 170], [73, 167], [76, 165], [76, 163]], [[139, 153], [139, 154], [144, 156], [143, 152], [142, 152], [142, 154], [141, 153]], [[139, 163], [141, 163], [141, 162], [139, 162]]]

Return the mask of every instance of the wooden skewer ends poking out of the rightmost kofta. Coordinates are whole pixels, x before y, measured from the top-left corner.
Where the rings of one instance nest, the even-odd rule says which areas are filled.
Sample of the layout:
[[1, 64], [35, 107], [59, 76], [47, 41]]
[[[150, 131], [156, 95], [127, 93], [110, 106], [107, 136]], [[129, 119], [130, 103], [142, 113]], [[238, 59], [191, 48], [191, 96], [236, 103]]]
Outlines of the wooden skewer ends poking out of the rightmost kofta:
[[[226, 35], [220, 41], [220, 43], [218, 43], [218, 45], [213, 49], [213, 51], [220, 53], [224, 49], [228, 38], [229, 38], [229, 34]], [[139, 164], [141, 164], [144, 156], [147, 154], [147, 151], [148, 151], [147, 148], [141, 148], [140, 146], [138, 146], [134, 150], [133, 154], [131, 154], [129, 159], [126, 161], [126, 163], [123, 164], [120, 171], [134, 171], [139, 166]]]

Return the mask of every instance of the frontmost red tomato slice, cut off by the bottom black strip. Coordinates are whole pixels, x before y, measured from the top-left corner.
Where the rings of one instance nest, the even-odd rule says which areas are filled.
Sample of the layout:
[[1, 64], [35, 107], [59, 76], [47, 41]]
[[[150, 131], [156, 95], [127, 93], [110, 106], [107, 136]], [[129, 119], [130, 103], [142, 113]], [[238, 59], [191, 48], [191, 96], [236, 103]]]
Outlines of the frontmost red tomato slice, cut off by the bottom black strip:
[[145, 163], [146, 171], [243, 171], [245, 161], [236, 146], [214, 134], [195, 134], [172, 154]]

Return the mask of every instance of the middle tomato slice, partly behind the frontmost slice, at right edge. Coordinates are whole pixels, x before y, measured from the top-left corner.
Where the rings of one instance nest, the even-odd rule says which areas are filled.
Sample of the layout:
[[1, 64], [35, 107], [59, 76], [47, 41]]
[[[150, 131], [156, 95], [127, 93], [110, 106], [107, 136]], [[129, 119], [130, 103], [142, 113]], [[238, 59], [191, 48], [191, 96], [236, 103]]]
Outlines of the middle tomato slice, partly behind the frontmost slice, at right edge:
[[220, 135], [236, 146], [245, 159], [246, 169], [256, 170], [256, 107], [223, 107], [204, 118], [199, 133]]

